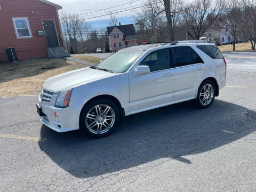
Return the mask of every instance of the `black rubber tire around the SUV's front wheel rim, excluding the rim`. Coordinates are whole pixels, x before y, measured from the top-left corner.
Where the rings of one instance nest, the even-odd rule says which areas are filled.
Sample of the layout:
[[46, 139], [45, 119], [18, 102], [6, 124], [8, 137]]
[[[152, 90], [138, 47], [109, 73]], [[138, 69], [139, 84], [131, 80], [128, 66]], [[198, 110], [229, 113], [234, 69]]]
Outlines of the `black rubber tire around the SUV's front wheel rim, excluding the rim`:
[[[98, 105], [100, 105], [100, 107], [104, 106], [104, 105], [109, 106], [111, 109], [113, 109], [113, 111], [115, 113], [114, 114], [115, 119], [114, 119], [113, 126], [111, 126], [111, 128], [105, 133], [94, 133], [92, 131], [94, 131], [93, 129], [97, 129], [97, 127], [93, 127], [90, 131], [90, 129], [86, 125], [86, 121], [87, 122], [88, 121], [94, 121], [94, 120], [91, 120], [91, 119], [88, 119], [88, 118], [86, 119], [86, 116], [92, 108], [94, 108], [95, 106], [98, 106]], [[104, 110], [104, 109], [102, 109], [102, 110]], [[90, 112], [90, 113], [92, 113], [92, 112]], [[111, 113], [111, 111], [109, 113]], [[107, 120], [107, 121], [109, 122], [110, 120]], [[101, 137], [105, 137], [106, 135], [110, 134], [115, 129], [115, 127], [118, 126], [119, 121], [120, 121], [120, 110], [113, 101], [111, 101], [109, 99], [96, 99], [96, 100], [93, 100], [92, 102], [87, 103], [85, 105], [85, 107], [83, 108], [81, 116], [80, 116], [80, 121], [79, 121], [79, 129], [81, 131], [85, 132], [87, 135], [90, 135], [91, 137], [101, 138]], [[98, 123], [98, 122], [96, 122], [96, 123]], [[89, 124], [89, 123], [87, 123], [87, 124]], [[98, 125], [95, 125], [95, 126], [98, 126]], [[105, 127], [105, 125], [104, 126], [102, 125], [102, 127]]]

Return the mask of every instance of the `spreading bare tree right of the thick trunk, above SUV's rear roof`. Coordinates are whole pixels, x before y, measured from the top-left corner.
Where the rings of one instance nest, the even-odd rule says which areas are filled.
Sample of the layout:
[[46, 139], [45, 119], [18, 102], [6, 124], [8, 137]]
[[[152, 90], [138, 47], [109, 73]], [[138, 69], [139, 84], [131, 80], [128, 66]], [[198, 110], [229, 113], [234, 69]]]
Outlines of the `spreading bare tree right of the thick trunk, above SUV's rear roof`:
[[187, 4], [186, 15], [188, 35], [199, 39], [219, 18], [223, 11], [222, 0], [195, 0]]

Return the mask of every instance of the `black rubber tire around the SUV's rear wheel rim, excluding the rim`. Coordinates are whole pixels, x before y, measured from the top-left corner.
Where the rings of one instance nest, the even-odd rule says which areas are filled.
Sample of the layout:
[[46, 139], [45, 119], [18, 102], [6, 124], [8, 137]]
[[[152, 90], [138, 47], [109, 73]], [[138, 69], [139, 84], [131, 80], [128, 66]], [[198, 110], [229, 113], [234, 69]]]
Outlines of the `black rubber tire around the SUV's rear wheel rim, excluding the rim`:
[[[202, 96], [200, 97], [200, 93], [201, 93], [201, 91], [203, 91], [203, 87], [204, 87], [204, 86], [207, 86], [207, 85], [209, 85], [209, 84], [213, 87], [213, 96], [212, 96], [211, 102], [203, 104], [202, 101], [201, 101]], [[203, 81], [203, 82], [201, 83], [201, 85], [199, 86], [199, 88], [198, 88], [197, 97], [196, 97], [196, 99], [194, 100], [194, 103], [195, 103], [196, 107], [198, 107], [198, 108], [207, 108], [207, 107], [210, 107], [210, 106], [212, 105], [214, 99], [215, 99], [215, 94], [216, 94], [216, 86], [215, 86], [215, 84], [214, 84], [212, 81], [210, 81], [210, 80], [205, 80], [205, 81]], [[203, 100], [203, 99], [202, 99], [202, 100]]]

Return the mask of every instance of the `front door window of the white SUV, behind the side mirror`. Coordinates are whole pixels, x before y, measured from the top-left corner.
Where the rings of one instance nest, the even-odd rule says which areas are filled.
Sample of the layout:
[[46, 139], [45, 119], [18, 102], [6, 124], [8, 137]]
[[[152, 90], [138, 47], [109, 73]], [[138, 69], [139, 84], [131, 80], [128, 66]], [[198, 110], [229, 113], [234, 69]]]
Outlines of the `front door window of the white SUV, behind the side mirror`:
[[140, 65], [148, 66], [150, 72], [171, 68], [170, 50], [162, 49], [150, 53]]

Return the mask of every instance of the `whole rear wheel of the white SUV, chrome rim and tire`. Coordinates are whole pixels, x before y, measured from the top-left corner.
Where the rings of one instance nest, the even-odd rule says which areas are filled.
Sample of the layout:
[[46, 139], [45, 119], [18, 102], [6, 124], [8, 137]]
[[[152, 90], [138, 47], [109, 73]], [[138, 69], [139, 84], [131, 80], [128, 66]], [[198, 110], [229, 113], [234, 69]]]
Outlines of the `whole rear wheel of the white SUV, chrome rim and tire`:
[[195, 103], [199, 108], [207, 108], [212, 105], [215, 98], [215, 84], [212, 81], [204, 81], [198, 88]]

